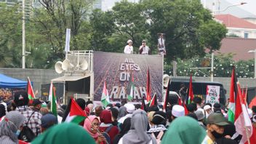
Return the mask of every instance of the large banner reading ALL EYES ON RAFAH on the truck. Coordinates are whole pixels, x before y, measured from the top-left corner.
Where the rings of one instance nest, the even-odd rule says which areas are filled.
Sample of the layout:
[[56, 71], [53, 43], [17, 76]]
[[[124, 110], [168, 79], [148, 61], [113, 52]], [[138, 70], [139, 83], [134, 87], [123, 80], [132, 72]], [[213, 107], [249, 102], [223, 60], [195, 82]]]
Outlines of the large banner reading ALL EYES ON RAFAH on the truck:
[[163, 57], [161, 55], [127, 55], [112, 52], [94, 52], [94, 100], [100, 100], [104, 80], [111, 100], [127, 99], [127, 88], [132, 73], [133, 100], [146, 95], [147, 70], [151, 73], [151, 97], [162, 94]]

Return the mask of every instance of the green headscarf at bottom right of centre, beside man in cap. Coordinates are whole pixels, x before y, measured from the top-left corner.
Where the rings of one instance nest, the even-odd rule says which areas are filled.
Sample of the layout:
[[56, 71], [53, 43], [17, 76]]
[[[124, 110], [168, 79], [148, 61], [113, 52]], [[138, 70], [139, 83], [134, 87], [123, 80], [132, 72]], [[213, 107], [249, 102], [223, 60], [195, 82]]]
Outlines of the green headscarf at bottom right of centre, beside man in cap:
[[188, 116], [181, 116], [172, 121], [161, 144], [201, 143], [205, 136], [206, 131], [199, 126], [198, 121]]

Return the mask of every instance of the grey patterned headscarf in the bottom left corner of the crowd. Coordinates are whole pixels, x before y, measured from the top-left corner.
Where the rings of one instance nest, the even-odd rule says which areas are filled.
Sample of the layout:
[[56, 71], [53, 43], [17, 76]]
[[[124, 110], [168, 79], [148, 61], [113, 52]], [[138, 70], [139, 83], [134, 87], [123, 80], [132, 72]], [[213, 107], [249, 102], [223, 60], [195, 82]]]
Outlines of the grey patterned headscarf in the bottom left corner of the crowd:
[[25, 117], [17, 111], [10, 111], [5, 116], [4, 120], [0, 123], [0, 137], [7, 136], [12, 141], [17, 142], [17, 136], [15, 132], [25, 121]]

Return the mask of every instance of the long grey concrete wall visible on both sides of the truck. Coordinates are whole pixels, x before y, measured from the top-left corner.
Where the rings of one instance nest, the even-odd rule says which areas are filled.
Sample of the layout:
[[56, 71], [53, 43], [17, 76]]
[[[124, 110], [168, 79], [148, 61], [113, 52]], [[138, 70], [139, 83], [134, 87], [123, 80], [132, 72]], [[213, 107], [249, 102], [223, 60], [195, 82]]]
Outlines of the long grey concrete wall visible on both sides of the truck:
[[[58, 74], [55, 70], [44, 70], [44, 69], [22, 69], [22, 68], [0, 68], [0, 73], [3, 73], [7, 76], [12, 76], [16, 79], [27, 80], [27, 77], [33, 81], [33, 89], [39, 91], [39, 95], [41, 96], [41, 84], [49, 84], [51, 79], [55, 79], [57, 77], [63, 76], [63, 74]], [[178, 78], [186, 78], [189, 77], [179, 76]], [[210, 81], [209, 77], [193, 77], [195, 81]], [[214, 77], [214, 81], [218, 81], [223, 84], [224, 88], [227, 90], [227, 97], [229, 97], [229, 87], [231, 83], [231, 78], [222, 78], [222, 77]], [[239, 82], [242, 87], [256, 87], [256, 79], [245, 79], [239, 78]]]

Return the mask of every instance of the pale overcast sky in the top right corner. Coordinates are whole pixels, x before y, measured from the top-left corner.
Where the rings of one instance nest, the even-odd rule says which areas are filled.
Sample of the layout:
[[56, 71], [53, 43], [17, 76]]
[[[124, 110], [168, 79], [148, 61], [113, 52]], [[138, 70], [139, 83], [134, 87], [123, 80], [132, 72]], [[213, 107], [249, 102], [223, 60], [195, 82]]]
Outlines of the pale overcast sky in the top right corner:
[[[221, 0], [220, 0], [221, 1]], [[247, 2], [247, 4], [239, 6], [241, 9], [251, 12], [256, 15], [256, 0], [226, 0], [231, 4], [239, 4], [240, 2]]]

